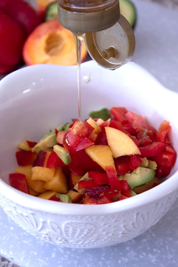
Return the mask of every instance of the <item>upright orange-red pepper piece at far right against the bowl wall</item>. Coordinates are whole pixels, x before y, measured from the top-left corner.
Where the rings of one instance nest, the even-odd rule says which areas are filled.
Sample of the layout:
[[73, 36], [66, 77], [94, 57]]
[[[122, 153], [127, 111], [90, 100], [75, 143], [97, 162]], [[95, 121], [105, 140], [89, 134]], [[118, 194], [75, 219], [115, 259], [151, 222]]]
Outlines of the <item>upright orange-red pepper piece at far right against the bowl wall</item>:
[[167, 120], [163, 120], [156, 134], [156, 141], [170, 144], [168, 133], [171, 130], [171, 126]]

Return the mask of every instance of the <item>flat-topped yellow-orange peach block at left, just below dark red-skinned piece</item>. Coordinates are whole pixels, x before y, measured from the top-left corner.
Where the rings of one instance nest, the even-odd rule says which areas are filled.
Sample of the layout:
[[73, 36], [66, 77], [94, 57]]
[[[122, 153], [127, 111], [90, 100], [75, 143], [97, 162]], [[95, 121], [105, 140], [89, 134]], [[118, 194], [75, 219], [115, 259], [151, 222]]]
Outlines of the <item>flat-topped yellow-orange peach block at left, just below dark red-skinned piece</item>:
[[32, 171], [31, 174], [32, 180], [40, 180], [46, 182], [53, 178], [55, 173], [55, 168], [49, 169], [49, 168], [35, 166], [31, 169], [31, 171]]

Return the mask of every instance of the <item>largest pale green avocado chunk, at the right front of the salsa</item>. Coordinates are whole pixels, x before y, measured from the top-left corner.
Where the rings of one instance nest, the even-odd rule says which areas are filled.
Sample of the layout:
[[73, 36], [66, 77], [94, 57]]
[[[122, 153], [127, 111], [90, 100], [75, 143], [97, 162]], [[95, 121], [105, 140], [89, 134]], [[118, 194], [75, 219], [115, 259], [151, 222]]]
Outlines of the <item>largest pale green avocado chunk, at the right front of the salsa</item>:
[[123, 175], [119, 175], [119, 180], [127, 180], [130, 188], [138, 187], [141, 185], [147, 184], [149, 181], [153, 179], [155, 176], [155, 171], [144, 168], [144, 167], [137, 167], [131, 173], [126, 173]]

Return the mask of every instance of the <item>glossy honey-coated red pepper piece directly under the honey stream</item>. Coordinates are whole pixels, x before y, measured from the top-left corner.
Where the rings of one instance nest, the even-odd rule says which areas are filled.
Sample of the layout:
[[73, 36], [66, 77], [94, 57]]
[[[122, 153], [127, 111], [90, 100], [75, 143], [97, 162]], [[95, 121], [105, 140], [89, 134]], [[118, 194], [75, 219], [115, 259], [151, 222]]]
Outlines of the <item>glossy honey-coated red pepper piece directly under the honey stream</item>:
[[85, 134], [75, 133], [72, 129], [69, 129], [65, 134], [63, 146], [70, 152], [76, 152], [93, 144]]

